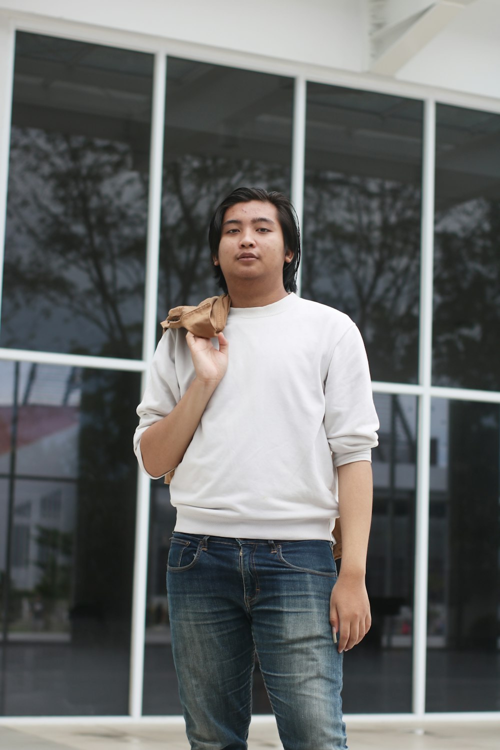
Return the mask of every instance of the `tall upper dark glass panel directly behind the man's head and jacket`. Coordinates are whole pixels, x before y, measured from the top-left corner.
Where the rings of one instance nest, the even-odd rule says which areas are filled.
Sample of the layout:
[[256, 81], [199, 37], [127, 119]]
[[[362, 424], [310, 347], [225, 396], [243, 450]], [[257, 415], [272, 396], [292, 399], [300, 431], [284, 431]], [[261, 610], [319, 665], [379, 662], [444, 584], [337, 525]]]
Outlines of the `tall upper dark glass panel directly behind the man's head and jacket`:
[[290, 193], [293, 80], [168, 58], [159, 320], [219, 294], [214, 208], [235, 187]]

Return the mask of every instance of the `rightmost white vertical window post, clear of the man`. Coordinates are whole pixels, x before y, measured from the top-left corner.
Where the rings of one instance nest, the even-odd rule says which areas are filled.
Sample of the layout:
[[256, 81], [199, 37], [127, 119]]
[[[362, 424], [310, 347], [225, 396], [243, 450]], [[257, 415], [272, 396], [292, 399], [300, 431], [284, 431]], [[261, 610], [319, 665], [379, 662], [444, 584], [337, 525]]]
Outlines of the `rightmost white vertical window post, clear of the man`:
[[417, 511], [415, 539], [415, 599], [413, 610], [412, 709], [425, 712], [427, 667], [427, 576], [429, 556], [430, 409], [433, 354], [434, 171], [436, 104], [424, 103], [424, 154], [421, 219], [421, 308], [418, 401]]

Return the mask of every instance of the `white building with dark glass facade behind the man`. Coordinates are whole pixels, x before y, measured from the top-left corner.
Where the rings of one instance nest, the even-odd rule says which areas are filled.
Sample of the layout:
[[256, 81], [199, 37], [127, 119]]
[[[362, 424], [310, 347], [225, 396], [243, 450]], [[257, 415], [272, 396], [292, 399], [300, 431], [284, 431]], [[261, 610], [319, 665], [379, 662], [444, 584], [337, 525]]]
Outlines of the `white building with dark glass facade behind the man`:
[[[36, 604], [19, 673], [60, 671], [24, 700], [8, 673], [0, 713], [179, 711], [174, 514], [130, 440], [156, 323], [215, 293], [208, 217], [241, 183], [292, 194], [301, 293], [348, 313], [370, 359], [374, 623], [346, 711], [498, 710], [499, 8], [17, 5], [0, 10], [1, 625]], [[50, 661], [40, 607], [63, 598]]]

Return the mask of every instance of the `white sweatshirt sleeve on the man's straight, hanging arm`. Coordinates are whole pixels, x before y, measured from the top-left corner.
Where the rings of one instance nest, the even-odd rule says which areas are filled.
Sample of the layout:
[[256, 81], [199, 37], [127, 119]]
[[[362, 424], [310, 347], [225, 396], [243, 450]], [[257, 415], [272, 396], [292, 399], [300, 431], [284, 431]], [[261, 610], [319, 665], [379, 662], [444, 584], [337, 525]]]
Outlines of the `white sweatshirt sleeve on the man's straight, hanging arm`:
[[367, 353], [353, 323], [334, 348], [325, 381], [325, 430], [334, 466], [370, 461], [378, 429]]

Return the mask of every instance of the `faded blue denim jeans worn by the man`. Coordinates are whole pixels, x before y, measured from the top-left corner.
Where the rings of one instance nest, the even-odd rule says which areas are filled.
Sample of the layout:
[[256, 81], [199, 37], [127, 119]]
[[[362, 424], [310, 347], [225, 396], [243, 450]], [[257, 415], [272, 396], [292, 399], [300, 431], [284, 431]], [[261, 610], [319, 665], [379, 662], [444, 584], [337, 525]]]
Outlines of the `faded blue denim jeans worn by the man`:
[[342, 661], [329, 604], [329, 541], [174, 532], [172, 650], [192, 750], [244, 750], [254, 655], [285, 750], [344, 750]]

